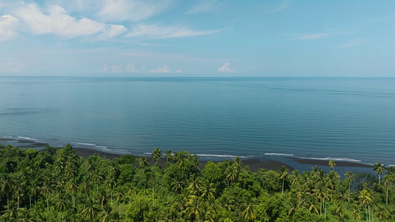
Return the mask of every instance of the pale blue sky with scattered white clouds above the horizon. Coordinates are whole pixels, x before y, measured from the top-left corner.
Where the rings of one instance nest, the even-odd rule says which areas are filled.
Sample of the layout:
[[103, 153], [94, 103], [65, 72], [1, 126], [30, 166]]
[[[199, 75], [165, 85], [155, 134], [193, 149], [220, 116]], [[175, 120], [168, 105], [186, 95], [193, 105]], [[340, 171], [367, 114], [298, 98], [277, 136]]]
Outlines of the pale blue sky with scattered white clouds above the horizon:
[[395, 1], [0, 0], [0, 75], [395, 77]]

